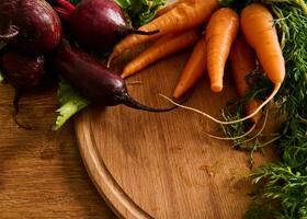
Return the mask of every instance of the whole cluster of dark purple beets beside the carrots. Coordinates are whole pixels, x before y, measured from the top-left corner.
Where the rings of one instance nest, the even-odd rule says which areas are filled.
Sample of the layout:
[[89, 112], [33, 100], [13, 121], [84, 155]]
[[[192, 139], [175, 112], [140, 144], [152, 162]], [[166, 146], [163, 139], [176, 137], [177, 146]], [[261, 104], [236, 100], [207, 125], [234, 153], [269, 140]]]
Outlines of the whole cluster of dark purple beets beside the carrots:
[[113, 0], [1, 0], [0, 70], [15, 88], [15, 115], [21, 92], [33, 90], [60, 73], [76, 90], [105, 106], [164, 112], [139, 104], [123, 79], [86, 51], [109, 53], [128, 34], [155, 34], [130, 27]]

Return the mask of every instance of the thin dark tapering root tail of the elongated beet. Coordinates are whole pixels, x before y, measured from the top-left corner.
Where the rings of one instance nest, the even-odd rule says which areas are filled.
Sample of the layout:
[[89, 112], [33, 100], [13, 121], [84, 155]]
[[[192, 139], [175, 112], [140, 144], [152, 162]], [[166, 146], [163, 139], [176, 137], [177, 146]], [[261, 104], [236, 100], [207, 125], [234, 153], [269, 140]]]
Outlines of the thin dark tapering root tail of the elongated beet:
[[122, 104], [130, 107], [130, 108], [136, 108], [136, 110], [141, 110], [141, 111], [148, 111], [148, 112], [154, 112], [154, 113], [162, 113], [162, 112], [170, 112], [174, 108], [177, 108], [177, 106], [172, 106], [169, 108], [154, 108], [150, 106], [146, 106], [139, 102], [137, 102], [136, 100], [134, 100], [129, 94], [124, 95], [122, 99]]

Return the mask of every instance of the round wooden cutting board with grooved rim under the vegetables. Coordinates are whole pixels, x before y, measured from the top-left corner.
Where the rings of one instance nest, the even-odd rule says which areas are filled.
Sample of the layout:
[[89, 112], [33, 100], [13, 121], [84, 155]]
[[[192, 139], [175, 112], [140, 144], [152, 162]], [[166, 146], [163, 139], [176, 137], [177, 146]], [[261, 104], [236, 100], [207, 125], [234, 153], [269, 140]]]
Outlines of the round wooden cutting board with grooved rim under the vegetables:
[[[169, 106], [190, 51], [150, 66], [127, 82], [130, 94], [150, 106]], [[117, 69], [130, 59], [126, 56]], [[226, 73], [225, 89], [209, 91], [205, 76], [186, 105], [216, 117], [235, 96]], [[121, 218], [241, 218], [250, 201], [248, 153], [231, 142], [208, 138], [217, 125], [185, 110], [148, 113], [126, 106], [91, 106], [76, 119], [84, 164], [98, 191]], [[255, 155], [255, 165], [268, 160]]]

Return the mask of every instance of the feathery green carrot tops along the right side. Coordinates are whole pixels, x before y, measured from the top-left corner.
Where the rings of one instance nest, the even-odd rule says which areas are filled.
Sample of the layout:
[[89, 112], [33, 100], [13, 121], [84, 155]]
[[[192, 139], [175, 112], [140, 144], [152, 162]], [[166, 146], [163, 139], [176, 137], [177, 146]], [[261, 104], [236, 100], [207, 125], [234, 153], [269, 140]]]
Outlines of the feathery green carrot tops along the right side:
[[[283, 56], [286, 61], [286, 79], [274, 99], [278, 106], [277, 116], [286, 120], [280, 126], [277, 134], [266, 137], [262, 135], [246, 142], [236, 140], [239, 149], [252, 154], [263, 151], [274, 141], [280, 162], [265, 164], [251, 175], [257, 189], [252, 194], [253, 203], [246, 218], [307, 218], [307, 7], [303, 0], [262, 0], [274, 18], [278, 30]], [[263, 73], [250, 77], [260, 78], [243, 100], [235, 103], [241, 111], [225, 114], [226, 119], [242, 116], [242, 103], [252, 96], [263, 97], [271, 90]], [[243, 132], [242, 124], [223, 127], [227, 136]]]

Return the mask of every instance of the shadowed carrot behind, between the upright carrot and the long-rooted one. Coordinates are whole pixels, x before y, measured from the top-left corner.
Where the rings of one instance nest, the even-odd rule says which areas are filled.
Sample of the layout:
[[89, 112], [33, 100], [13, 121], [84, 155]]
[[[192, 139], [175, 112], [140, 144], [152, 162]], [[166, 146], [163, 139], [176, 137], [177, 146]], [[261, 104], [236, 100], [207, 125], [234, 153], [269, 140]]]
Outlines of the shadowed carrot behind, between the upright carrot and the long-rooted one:
[[[229, 59], [235, 85], [240, 97], [243, 97], [250, 90], [246, 77], [257, 68], [255, 58], [254, 50], [248, 45], [245, 38], [236, 38], [231, 46]], [[246, 114], [250, 115], [258, 106], [258, 101], [254, 99], [250, 100], [246, 106]], [[259, 113], [250, 119], [252, 123], [257, 124], [260, 117], [261, 114]]]

